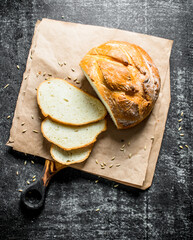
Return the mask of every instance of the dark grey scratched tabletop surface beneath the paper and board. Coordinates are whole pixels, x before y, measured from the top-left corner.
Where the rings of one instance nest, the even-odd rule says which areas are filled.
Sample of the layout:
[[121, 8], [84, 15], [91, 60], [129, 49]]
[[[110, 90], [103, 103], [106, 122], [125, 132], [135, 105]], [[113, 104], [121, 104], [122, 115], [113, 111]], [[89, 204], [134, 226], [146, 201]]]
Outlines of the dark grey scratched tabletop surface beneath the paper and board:
[[[1, 0], [0, 13], [0, 239], [191, 239], [192, 1]], [[62, 16], [64, 21], [173, 39], [172, 101], [153, 185], [148, 191], [113, 188], [112, 182], [102, 179], [96, 184], [94, 176], [64, 169], [48, 189], [45, 208], [33, 216], [21, 211], [18, 189], [24, 188], [34, 174], [41, 174], [44, 161], [14, 152], [5, 143], [34, 25], [43, 17], [62, 20]], [[4, 89], [6, 84], [9, 86]], [[179, 135], [179, 126], [184, 136]], [[189, 149], [179, 148], [185, 144]]]

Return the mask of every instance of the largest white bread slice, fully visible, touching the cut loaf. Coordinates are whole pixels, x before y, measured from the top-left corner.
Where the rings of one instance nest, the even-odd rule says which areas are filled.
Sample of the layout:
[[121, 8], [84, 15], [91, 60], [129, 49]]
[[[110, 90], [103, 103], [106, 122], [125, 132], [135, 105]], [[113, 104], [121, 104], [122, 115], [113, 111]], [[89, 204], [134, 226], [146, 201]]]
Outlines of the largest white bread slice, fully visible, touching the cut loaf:
[[97, 122], [107, 114], [97, 98], [63, 79], [42, 82], [37, 89], [37, 101], [45, 117], [68, 125]]

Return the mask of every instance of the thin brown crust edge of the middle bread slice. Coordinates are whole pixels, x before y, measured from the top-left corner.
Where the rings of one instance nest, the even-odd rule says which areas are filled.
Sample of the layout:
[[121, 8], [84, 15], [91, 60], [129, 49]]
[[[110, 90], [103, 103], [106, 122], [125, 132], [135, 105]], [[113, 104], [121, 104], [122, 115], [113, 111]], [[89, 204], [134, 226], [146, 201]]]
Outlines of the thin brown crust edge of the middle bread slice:
[[[60, 144], [56, 144], [55, 142], [51, 141], [51, 140], [45, 135], [45, 133], [44, 133], [44, 131], [43, 131], [43, 124], [44, 124], [44, 122], [46, 121], [46, 119], [47, 119], [47, 118], [45, 118], [45, 119], [42, 121], [42, 124], [41, 124], [41, 132], [42, 132], [42, 135], [43, 135], [43, 136], [45, 137], [45, 139], [47, 139], [50, 143], [55, 144], [56, 146], [62, 148], [63, 150], [66, 150], [66, 151], [84, 148], [84, 147], [87, 147], [87, 146], [93, 144], [94, 142], [96, 142], [97, 137], [99, 136], [99, 134], [101, 134], [102, 132], [104, 132], [104, 131], [107, 130], [107, 120], [104, 119], [104, 121], [105, 121], [105, 126], [104, 126], [104, 128], [95, 136], [95, 138], [93, 139], [93, 141], [91, 141], [91, 142], [89, 142], [89, 143], [87, 143], [87, 144], [85, 144], [85, 145], [81, 145], [81, 146], [79, 146], [79, 147], [64, 148], [64, 147], [61, 146]], [[91, 123], [91, 124], [92, 124], [92, 123]]]

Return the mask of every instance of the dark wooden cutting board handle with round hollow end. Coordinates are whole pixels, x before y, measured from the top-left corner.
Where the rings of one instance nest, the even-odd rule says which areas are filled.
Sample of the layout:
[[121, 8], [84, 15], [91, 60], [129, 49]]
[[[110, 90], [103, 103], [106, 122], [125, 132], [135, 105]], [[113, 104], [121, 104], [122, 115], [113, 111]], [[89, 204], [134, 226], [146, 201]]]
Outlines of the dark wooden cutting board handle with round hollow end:
[[28, 210], [37, 210], [42, 208], [45, 202], [46, 187], [48, 186], [51, 178], [63, 168], [65, 168], [65, 165], [46, 160], [40, 179], [28, 186], [21, 193], [21, 204]]

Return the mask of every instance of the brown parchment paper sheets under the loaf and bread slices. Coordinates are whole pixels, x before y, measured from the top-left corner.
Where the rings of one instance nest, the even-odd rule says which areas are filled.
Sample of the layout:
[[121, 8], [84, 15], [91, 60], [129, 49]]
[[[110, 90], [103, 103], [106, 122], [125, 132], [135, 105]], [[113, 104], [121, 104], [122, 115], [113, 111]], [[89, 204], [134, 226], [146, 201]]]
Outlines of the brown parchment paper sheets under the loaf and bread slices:
[[[84, 77], [79, 62], [92, 47], [108, 40], [135, 43], [149, 53], [160, 72], [160, 95], [151, 115], [134, 128], [117, 130], [107, 116], [108, 129], [98, 137], [90, 157], [84, 163], [72, 167], [146, 189], [153, 179], [170, 103], [171, 40], [98, 26], [49, 19], [38, 21], [7, 145], [17, 151], [52, 160], [49, 154], [50, 144], [40, 132], [42, 116], [37, 105], [36, 88], [45, 78], [66, 79], [70, 76], [71, 79], [67, 78], [69, 82], [96, 96]], [[80, 84], [73, 81], [76, 78]], [[23, 133], [23, 130], [26, 131]], [[122, 147], [124, 151], [121, 151]], [[96, 159], [99, 163], [106, 163], [105, 169], [96, 164]], [[111, 164], [113, 167], [109, 168]]]

